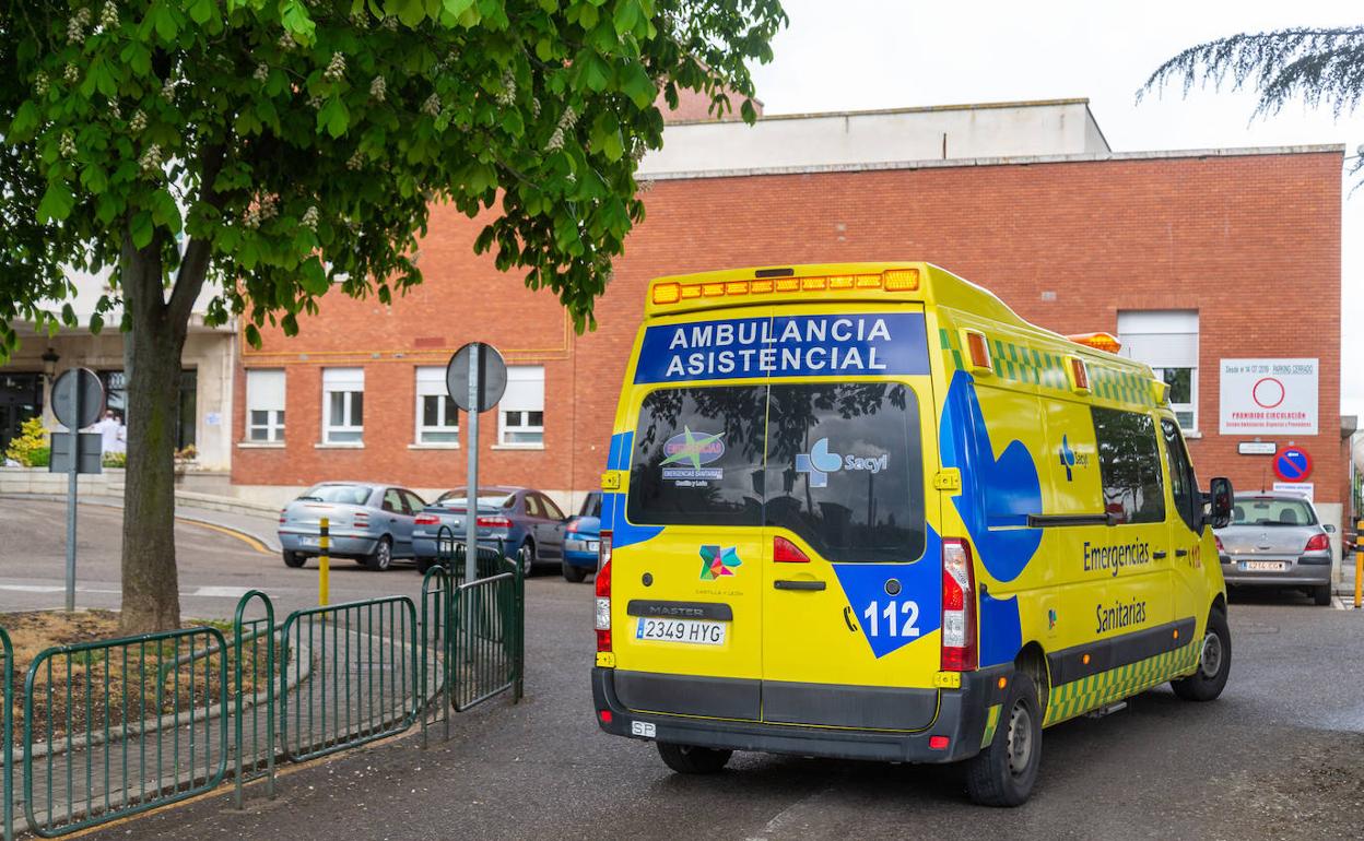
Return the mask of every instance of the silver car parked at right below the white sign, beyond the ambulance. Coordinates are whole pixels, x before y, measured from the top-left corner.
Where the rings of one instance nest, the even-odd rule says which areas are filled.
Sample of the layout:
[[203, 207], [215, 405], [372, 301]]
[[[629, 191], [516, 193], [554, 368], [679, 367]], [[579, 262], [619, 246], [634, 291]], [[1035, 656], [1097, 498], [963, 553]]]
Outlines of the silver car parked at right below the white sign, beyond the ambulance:
[[1316, 508], [1296, 493], [1237, 493], [1232, 525], [1217, 530], [1229, 585], [1297, 587], [1331, 604], [1331, 538]]

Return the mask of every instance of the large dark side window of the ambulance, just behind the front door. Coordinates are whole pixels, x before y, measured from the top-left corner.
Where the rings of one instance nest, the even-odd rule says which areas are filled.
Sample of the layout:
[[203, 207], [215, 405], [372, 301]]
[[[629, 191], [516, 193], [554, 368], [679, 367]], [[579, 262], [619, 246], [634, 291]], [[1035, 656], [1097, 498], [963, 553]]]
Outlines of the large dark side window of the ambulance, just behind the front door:
[[1090, 409], [1098, 442], [1103, 510], [1120, 523], [1162, 522], [1165, 483], [1155, 423], [1148, 414]]

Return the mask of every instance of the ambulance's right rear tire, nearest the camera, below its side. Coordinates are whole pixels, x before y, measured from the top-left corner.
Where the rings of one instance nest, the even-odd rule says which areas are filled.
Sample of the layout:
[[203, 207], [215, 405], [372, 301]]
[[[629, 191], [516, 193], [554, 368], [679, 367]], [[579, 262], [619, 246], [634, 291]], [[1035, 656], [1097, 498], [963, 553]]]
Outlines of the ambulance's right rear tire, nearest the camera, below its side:
[[966, 761], [966, 791], [981, 806], [1022, 806], [1042, 765], [1042, 713], [1037, 684], [1015, 672], [990, 746]]

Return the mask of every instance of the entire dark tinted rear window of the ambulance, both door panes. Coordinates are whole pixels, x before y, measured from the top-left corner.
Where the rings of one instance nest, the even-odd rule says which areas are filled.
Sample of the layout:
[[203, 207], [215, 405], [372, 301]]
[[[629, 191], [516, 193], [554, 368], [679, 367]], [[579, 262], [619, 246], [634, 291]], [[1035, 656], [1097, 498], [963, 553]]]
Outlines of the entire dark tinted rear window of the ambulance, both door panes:
[[769, 525], [828, 560], [923, 553], [919, 406], [898, 383], [666, 388], [634, 431], [630, 522]]

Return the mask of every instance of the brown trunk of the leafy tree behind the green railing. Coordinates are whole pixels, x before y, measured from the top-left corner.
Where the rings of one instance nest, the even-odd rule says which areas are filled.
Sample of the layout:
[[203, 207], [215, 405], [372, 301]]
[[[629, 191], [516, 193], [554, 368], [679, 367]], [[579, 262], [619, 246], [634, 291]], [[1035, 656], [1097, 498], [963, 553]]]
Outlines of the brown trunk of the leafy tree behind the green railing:
[[187, 318], [166, 303], [157, 244], [123, 249], [128, 465], [123, 492], [124, 634], [180, 627], [175, 562], [175, 446]]

